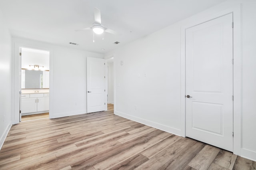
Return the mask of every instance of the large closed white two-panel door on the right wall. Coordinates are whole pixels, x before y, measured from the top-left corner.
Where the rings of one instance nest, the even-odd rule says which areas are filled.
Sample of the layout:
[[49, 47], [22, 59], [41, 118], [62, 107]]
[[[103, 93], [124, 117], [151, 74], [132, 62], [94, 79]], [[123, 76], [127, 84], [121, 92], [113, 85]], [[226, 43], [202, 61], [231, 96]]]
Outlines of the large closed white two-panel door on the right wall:
[[233, 151], [232, 14], [186, 29], [186, 136]]

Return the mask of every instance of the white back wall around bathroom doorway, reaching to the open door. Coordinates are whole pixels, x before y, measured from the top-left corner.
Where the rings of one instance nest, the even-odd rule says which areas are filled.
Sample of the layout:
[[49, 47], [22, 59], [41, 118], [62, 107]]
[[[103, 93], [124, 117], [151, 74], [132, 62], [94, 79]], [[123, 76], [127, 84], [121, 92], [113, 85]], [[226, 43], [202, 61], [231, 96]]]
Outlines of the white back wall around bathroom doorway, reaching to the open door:
[[[13, 38], [15, 82], [18, 82], [18, 47], [30, 47], [50, 51], [50, 118], [86, 113], [86, 57], [103, 58], [102, 54], [61, 47], [48, 43]], [[14, 123], [18, 123], [18, 83], [15, 83], [16, 111]]]

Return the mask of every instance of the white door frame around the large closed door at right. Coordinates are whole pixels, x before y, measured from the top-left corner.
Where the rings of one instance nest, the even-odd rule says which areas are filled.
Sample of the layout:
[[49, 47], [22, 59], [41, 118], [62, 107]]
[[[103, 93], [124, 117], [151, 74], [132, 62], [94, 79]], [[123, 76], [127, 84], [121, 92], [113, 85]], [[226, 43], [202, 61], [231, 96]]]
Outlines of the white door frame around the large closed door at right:
[[[220, 16], [224, 16], [226, 14], [233, 13], [233, 130], [234, 130], [234, 138], [233, 138], [233, 153], [240, 155], [241, 154], [241, 85], [242, 85], [242, 54], [241, 54], [241, 4], [228, 8], [226, 10], [222, 10], [216, 12], [212, 15], [205, 15], [193, 22], [182, 26], [180, 29], [181, 36], [181, 53], [180, 53], [180, 67], [181, 67], [181, 136], [186, 137], [186, 36], [185, 30], [192, 26], [196, 26], [198, 24], [202, 24], [204, 22], [213, 20]], [[231, 23], [230, 23], [231, 24]], [[231, 61], [230, 61], [231, 62]]]

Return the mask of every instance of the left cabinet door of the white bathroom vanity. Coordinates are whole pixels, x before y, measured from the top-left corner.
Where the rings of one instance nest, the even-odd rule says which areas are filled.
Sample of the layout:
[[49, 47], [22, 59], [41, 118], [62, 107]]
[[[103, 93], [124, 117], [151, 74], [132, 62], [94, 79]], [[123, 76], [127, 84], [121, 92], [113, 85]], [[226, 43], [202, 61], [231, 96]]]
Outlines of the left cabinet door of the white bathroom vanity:
[[36, 112], [36, 98], [21, 99], [21, 113]]

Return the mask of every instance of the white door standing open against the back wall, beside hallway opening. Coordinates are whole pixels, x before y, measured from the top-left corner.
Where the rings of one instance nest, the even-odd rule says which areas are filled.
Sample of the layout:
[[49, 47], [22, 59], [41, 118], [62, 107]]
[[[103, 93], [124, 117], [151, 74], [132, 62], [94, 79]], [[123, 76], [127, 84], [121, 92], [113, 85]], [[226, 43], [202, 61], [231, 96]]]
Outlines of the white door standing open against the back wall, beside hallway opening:
[[105, 59], [87, 57], [87, 113], [106, 111]]

